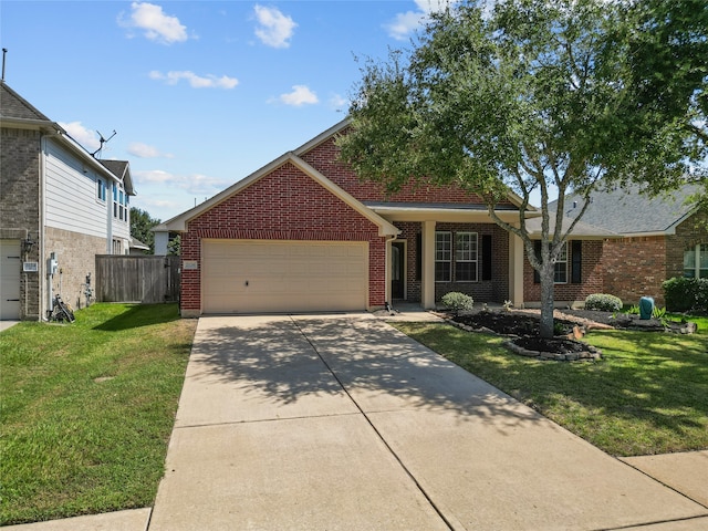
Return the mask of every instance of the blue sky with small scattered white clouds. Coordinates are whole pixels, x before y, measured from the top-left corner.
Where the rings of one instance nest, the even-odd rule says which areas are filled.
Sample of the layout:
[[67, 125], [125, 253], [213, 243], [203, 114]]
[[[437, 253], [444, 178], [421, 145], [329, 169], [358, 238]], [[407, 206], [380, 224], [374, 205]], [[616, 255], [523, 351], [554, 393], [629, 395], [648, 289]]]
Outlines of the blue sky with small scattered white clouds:
[[129, 160], [167, 220], [346, 116], [355, 56], [408, 46], [439, 1], [7, 1], [6, 82]]

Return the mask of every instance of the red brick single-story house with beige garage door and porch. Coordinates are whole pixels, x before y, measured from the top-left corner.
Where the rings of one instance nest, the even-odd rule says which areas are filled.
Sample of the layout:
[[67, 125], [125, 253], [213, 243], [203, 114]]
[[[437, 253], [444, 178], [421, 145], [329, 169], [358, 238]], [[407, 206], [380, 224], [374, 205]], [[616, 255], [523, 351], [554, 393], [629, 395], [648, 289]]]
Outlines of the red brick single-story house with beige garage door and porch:
[[[387, 302], [434, 308], [448, 291], [477, 302], [538, 303], [521, 240], [498, 227], [481, 198], [419, 184], [394, 195], [337, 158], [343, 121], [155, 228], [157, 254], [181, 237], [181, 314], [372, 310]], [[513, 194], [497, 206], [509, 222]], [[537, 235], [538, 236], [538, 235]], [[600, 290], [603, 241], [580, 223], [556, 267], [559, 303]]]

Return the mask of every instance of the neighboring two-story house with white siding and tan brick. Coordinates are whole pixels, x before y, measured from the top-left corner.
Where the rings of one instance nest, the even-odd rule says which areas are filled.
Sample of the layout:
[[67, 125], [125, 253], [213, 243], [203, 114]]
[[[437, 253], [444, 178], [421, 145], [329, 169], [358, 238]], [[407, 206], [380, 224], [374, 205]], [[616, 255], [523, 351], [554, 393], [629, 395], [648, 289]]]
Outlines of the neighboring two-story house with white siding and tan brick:
[[0, 319], [41, 320], [55, 294], [83, 303], [96, 254], [129, 252], [131, 169], [94, 158], [4, 82], [0, 129]]

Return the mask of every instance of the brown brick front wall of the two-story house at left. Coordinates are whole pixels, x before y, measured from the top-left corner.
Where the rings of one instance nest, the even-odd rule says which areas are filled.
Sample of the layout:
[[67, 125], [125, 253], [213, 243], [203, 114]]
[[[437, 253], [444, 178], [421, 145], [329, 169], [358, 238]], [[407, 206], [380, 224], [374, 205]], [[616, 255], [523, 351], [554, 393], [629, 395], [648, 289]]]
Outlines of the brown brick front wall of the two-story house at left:
[[[0, 129], [0, 238], [22, 240], [29, 235], [38, 241], [40, 231], [39, 160], [40, 133]], [[23, 261], [39, 262], [39, 246], [22, 256]], [[39, 273], [20, 275], [20, 317], [40, 317]]]

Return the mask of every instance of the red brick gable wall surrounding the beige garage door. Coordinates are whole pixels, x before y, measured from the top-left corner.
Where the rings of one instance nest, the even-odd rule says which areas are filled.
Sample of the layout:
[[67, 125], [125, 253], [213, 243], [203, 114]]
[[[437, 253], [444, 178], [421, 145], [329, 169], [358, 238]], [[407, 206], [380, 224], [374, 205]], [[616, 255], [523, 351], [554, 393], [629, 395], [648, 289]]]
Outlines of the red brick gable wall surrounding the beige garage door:
[[[200, 261], [202, 238], [367, 241], [368, 304], [385, 303], [385, 238], [378, 227], [290, 163], [189, 221], [183, 260]], [[180, 301], [184, 313], [200, 311], [200, 271], [183, 270]]]

